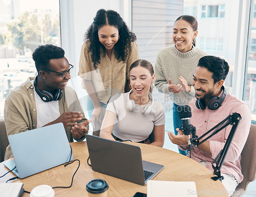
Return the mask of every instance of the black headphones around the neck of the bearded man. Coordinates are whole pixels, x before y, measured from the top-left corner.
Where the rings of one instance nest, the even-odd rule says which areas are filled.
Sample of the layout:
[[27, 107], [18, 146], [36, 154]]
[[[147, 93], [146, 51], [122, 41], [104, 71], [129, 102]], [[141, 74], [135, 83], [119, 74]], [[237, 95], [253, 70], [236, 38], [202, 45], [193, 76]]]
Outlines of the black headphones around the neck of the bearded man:
[[221, 89], [224, 91], [223, 94], [221, 95], [221, 97], [215, 96], [212, 97], [208, 102], [207, 105], [203, 100], [201, 99], [197, 99], [196, 100], [196, 106], [199, 110], [205, 110], [206, 106], [209, 108], [209, 110], [218, 110], [218, 108], [221, 106], [221, 103], [223, 102], [223, 100], [225, 99], [226, 95], [227, 95], [227, 91], [225, 89], [225, 87], [222, 85]]

